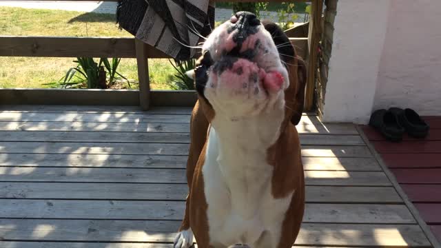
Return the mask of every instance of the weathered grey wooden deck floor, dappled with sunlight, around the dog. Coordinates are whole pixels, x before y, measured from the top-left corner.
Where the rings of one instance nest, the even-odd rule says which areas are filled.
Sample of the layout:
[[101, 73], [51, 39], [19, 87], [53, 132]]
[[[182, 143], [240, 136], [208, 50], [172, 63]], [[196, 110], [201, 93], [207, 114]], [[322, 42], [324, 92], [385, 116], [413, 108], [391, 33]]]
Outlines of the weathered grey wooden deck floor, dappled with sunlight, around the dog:
[[[0, 106], [0, 247], [172, 247], [188, 108]], [[431, 247], [353, 125], [303, 116], [296, 246]]]

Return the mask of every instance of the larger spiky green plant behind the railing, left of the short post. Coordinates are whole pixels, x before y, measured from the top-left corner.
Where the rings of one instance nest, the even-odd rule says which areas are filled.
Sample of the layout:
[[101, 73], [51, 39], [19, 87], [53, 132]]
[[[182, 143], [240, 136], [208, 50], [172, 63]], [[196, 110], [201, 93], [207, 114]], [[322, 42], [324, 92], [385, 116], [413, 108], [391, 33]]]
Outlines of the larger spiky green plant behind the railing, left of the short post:
[[[60, 86], [64, 88], [103, 89], [114, 85], [117, 79], [124, 79], [130, 87], [129, 81], [117, 72], [120, 62], [120, 58], [113, 58], [112, 63], [107, 58], [101, 58], [99, 63], [96, 63], [92, 58], [78, 57], [74, 61], [78, 65], [68, 70]], [[107, 75], [108, 83], [106, 84]]]

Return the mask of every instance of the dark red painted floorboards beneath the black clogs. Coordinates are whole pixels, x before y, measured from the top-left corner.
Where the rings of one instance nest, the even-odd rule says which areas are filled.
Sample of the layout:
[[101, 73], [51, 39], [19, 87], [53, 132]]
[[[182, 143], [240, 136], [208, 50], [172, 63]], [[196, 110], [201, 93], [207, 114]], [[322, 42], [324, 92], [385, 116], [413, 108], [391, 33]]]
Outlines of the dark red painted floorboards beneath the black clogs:
[[430, 125], [425, 139], [405, 135], [392, 143], [372, 127], [362, 130], [441, 242], [441, 116], [423, 118]]

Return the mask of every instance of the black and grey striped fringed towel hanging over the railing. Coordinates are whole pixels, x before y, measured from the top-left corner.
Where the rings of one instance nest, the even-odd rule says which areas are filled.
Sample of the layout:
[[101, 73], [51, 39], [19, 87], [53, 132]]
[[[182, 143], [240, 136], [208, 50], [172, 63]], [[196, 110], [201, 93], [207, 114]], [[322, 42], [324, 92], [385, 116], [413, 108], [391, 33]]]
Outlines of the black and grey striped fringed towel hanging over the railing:
[[[214, 28], [209, 0], [119, 0], [116, 22], [174, 59], [192, 58], [201, 36]], [[184, 44], [184, 45], [183, 45]]]

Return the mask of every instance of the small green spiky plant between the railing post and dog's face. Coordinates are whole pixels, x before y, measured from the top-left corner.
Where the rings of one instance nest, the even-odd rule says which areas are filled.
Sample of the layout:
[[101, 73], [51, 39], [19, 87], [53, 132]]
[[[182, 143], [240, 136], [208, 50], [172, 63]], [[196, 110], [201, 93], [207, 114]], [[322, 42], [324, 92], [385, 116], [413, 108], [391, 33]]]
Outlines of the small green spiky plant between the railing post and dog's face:
[[174, 74], [176, 80], [168, 82], [172, 90], [194, 90], [194, 79], [189, 78], [185, 73], [189, 70], [194, 70], [196, 60], [179, 61], [174, 59], [172, 61], [169, 59], [169, 61], [177, 72], [177, 74]]

